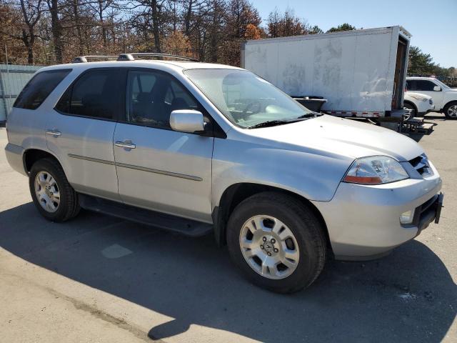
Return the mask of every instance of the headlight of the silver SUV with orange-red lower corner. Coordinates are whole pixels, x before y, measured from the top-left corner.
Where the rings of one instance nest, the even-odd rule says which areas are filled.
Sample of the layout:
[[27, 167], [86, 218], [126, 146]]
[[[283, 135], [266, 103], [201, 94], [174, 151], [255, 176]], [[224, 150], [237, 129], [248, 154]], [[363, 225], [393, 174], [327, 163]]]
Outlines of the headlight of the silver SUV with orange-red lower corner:
[[353, 161], [343, 182], [353, 184], [387, 184], [408, 179], [403, 166], [389, 156], [369, 156]]

